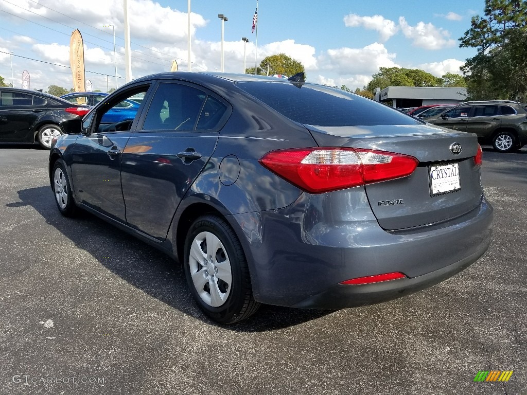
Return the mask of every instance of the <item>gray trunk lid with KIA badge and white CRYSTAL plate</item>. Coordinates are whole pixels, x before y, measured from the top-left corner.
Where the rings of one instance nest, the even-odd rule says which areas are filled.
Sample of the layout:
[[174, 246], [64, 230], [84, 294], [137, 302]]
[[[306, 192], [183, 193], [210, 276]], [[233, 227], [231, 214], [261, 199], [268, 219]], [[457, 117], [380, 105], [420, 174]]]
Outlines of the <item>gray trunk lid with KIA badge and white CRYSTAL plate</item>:
[[[386, 230], [452, 219], [473, 210], [481, 202], [480, 166], [473, 160], [477, 152], [474, 134], [432, 125], [306, 127], [319, 146], [395, 152], [414, 156], [419, 161], [407, 177], [365, 186], [373, 213]], [[462, 151], [454, 154], [451, 146], [456, 143]], [[441, 186], [439, 182], [446, 180], [443, 176], [454, 183]], [[452, 187], [456, 189], [447, 192]]]

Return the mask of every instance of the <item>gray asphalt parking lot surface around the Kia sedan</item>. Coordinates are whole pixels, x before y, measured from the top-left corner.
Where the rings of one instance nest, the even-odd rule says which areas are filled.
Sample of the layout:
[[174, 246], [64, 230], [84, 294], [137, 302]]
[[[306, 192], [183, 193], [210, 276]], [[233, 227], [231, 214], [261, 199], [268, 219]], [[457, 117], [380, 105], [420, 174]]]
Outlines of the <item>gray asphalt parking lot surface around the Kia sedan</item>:
[[[527, 395], [525, 148], [484, 150], [494, 236], [465, 271], [392, 302], [264, 306], [230, 327], [201, 314], [179, 264], [93, 215], [63, 218], [47, 155], [0, 145], [1, 394]], [[482, 370], [513, 374], [474, 382]]]

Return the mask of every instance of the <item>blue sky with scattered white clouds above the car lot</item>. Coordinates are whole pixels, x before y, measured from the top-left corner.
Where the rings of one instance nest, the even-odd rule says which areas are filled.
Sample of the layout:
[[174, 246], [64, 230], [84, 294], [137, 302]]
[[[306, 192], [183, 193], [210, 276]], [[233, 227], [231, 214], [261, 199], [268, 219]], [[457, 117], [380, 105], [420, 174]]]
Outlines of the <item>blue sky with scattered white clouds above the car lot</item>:
[[[258, 36], [251, 33], [256, 0], [191, 0], [192, 71], [219, 71], [221, 20], [225, 72], [243, 72], [268, 56], [285, 53], [304, 64], [307, 81], [362, 88], [379, 67], [419, 68], [436, 76], [461, 74], [474, 48], [458, 38], [471, 17], [483, 15], [484, 0], [258, 1]], [[176, 60], [188, 70], [188, 0], [128, 0], [132, 79], [170, 71]], [[93, 90], [125, 83], [123, 0], [0, 0], [0, 76], [31, 88], [73, 86], [70, 36], [84, 39], [86, 79]], [[242, 37], [249, 43], [244, 44]], [[256, 46], [257, 39], [257, 46]], [[12, 53], [12, 54], [10, 54]], [[11, 70], [13, 64], [13, 73]], [[107, 77], [108, 76], [108, 77]]]

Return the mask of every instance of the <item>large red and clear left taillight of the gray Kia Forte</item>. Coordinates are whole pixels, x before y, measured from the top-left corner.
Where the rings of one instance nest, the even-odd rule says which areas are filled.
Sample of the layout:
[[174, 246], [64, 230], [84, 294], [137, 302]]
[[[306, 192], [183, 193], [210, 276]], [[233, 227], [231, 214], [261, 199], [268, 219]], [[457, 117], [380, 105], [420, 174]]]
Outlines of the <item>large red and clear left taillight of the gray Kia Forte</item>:
[[259, 162], [310, 193], [336, 191], [413, 173], [413, 156], [342, 147], [271, 151]]

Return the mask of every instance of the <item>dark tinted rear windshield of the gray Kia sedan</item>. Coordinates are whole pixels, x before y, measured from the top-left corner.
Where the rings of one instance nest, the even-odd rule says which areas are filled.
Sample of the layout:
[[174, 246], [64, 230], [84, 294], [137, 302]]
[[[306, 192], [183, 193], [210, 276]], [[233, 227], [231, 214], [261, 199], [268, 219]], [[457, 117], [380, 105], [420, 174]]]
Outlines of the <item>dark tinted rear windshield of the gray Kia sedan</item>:
[[237, 86], [292, 121], [315, 126], [419, 125], [421, 121], [384, 104], [338, 88], [275, 82]]

